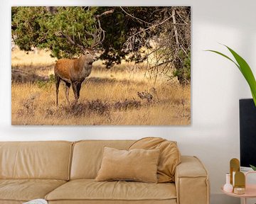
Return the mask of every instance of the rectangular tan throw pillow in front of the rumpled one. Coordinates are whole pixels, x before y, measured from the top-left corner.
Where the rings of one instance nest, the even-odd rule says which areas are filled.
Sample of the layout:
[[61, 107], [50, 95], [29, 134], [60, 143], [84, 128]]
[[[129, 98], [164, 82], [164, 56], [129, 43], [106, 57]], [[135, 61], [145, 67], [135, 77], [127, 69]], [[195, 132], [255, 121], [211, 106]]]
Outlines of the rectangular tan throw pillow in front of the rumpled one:
[[159, 149], [119, 150], [104, 147], [95, 181], [142, 181], [157, 183]]

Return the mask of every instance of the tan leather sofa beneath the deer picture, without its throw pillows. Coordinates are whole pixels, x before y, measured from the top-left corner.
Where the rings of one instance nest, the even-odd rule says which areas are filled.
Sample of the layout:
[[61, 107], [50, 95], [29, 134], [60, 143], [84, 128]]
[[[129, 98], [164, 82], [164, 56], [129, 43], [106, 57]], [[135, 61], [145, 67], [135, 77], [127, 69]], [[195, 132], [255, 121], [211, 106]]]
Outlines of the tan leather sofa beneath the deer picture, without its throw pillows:
[[0, 203], [44, 198], [48, 203], [208, 204], [208, 173], [182, 156], [175, 183], [95, 181], [104, 146], [127, 149], [132, 140], [0, 142]]

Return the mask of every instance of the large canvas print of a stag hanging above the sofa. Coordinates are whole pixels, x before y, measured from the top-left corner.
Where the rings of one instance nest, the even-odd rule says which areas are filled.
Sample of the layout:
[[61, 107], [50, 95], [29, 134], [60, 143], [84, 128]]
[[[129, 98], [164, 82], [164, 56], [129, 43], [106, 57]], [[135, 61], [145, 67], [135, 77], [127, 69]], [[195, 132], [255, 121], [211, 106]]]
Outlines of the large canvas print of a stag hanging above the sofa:
[[11, 8], [12, 125], [190, 125], [190, 6]]

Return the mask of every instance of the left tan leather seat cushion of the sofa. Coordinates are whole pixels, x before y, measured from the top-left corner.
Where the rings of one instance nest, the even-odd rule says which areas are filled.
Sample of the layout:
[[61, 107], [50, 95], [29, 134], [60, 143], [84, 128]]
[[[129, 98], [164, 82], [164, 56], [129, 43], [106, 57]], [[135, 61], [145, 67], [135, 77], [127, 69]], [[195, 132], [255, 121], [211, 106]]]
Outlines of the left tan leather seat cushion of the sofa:
[[28, 201], [44, 198], [65, 182], [50, 179], [0, 179], [0, 200]]

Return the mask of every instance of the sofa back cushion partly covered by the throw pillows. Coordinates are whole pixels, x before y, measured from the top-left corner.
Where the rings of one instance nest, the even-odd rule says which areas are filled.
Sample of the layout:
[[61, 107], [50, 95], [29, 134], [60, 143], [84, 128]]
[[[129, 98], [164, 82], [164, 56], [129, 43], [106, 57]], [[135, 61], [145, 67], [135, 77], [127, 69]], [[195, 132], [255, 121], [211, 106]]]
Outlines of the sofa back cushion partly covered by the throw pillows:
[[134, 140], [82, 140], [75, 142], [70, 179], [95, 179], [102, 162], [103, 147], [128, 149]]

